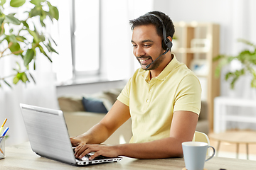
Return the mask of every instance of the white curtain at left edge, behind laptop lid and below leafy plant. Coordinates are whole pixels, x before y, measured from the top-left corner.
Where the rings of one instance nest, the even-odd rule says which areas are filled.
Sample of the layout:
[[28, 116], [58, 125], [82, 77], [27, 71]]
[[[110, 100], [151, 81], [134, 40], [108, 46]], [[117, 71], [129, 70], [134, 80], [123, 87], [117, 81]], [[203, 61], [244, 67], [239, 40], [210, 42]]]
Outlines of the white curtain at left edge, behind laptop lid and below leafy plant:
[[[9, 3], [9, 1], [6, 3]], [[50, 30], [50, 28], [48, 29]], [[57, 28], [52, 27], [51, 29], [55, 30]], [[58, 40], [56, 41], [58, 42]], [[7, 81], [12, 85], [11, 89], [3, 81], [0, 81], [0, 123], [2, 124], [4, 119], [7, 118], [5, 128], [9, 127], [7, 133], [9, 138], [6, 139], [6, 146], [16, 145], [28, 140], [19, 107], [20, 103], [58, 108], [52, 63], [40, 52], [37, 52], [36, 59], [36, 71], [33, 71], [33, 63], [30, 65], [31, 74], [33, 74], [36, 84], [31, 80], [29, 84], [18, 82], [18, 84], [13, 85], [13, 78], [9, 78]], [[14, 55], [0, 58], [0, 77], [14, 74], [12, 68], [16, 66], [16, 61], [21, 61], [21, 58]]]

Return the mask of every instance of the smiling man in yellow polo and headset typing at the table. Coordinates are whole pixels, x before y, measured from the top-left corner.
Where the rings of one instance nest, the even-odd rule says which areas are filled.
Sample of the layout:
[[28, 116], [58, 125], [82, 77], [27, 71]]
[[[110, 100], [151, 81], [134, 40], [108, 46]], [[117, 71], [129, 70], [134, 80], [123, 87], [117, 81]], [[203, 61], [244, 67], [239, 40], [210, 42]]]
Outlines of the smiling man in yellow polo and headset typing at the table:
[[[201, 108], [201, 85], [171, 54], [174, 25], [169, 16], [159, 11], [150, 13], [130, 21], [133, 53], [142, 68], [129, 79], [100, 123], [78, 137], [70, 137], [76, 147], [75, 157], [89, 152], [95, 152], [90, 159], [99, 155], [183, 157], [181, 143], [193, 139]], [[92, 145], [107, 140], [129, 118], [133, 133], [129, 144]]]

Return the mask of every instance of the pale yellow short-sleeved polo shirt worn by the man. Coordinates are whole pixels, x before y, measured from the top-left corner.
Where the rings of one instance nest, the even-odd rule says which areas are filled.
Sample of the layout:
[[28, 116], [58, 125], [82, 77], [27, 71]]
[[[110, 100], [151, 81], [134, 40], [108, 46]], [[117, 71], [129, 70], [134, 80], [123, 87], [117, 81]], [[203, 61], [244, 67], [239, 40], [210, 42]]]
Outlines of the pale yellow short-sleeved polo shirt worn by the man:
[[137, 69], [117, 97], [129, 106], [132, 118], [130, 142], [149, 142], [170, 136], [174, 111], [201, 109], [201, 84], [186, 64], [173, 60], [150, 80], [149, 71]]

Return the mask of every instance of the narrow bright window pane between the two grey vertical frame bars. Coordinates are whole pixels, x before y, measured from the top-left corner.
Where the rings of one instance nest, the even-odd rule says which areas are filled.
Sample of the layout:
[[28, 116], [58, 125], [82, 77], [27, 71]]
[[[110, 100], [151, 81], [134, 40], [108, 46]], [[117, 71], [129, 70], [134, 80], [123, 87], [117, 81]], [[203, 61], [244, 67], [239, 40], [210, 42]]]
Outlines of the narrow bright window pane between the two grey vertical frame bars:
[[72, 5], [73, 74], [99, 74], [100, 0], [73, 0]]

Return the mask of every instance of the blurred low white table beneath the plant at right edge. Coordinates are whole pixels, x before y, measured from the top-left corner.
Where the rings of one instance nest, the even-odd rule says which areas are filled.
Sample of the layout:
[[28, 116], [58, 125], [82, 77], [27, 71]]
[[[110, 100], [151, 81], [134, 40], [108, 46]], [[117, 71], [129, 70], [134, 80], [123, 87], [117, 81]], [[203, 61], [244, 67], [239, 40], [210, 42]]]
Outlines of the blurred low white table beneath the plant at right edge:
[[214, 98], [213, 132], [225, 132], [225, 130], [227, 130], [226, 125], [228, 121], [256, 123], [256, 117], [228, 115], [227, 106], [256, 107], [256, 101], [240, 98], [227, 98], [221, 96]]

